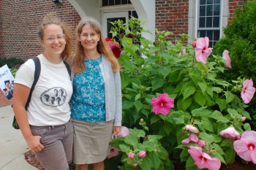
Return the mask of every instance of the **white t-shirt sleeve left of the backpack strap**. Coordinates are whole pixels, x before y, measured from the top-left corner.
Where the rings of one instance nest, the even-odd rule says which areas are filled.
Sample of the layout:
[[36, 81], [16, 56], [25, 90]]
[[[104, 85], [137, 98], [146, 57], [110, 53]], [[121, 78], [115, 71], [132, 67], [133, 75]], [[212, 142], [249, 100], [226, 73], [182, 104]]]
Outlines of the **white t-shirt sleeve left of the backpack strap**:
[[29, 59], [26, 63], [20, 66], [15, 75], [14, 83], [18, 83], [20, 85], [25, 85], [28, 88], [31, 88], [34, 82], [34, 61]]

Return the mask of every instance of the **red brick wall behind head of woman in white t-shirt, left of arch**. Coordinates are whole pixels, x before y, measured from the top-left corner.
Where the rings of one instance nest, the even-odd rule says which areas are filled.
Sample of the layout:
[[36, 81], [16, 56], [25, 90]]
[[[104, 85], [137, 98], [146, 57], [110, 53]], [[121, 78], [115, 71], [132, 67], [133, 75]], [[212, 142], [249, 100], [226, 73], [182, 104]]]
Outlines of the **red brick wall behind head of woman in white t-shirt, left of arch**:
[[80, 16], [68, 1], [56, 4], [50, 0], [0, 0], [0, 58], [26, 61], [42, 53], [37, 28], [48, 12], [58, 13], [75, 38]]

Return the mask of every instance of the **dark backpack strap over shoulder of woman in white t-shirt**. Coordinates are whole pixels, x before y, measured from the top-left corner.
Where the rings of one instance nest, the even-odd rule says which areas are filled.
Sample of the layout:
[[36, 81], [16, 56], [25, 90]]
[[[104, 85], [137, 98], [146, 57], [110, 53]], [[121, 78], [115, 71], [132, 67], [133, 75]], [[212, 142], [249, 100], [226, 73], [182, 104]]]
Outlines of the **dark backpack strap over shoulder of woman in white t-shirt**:
[[41, 64], [40, 64], [39, 58], [38, 57], [32, 58], [32, 60], [34, 61], [34, 66], [35, 66], [35, 69], [34, 69], [34, 82], [33, 82], [32, 86], [31, 86], [31, 89], [30, 89], [30, 92], [29, 92], [29, 98], [26, 101], [25, 109], [27, 109], [29, 107], [29, 102], [31, 100], [31, 95], [32, 95], [32, 92], [34, 90], [34, 86], [36, 86], [37, 81], [38, 81], [39, 76], [40, 76], [40, 72], [41, 72]]

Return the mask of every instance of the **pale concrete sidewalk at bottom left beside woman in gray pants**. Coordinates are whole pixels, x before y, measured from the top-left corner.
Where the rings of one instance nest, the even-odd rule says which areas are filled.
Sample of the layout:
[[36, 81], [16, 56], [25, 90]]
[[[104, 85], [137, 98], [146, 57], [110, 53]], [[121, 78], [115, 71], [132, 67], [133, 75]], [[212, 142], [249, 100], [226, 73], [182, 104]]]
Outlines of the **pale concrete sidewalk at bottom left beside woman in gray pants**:
[[12, 128], [13, 115], [11, 106], [0, 107], [0, 169], [37, 170], [24, 158], [29, 148], [20, 130]]

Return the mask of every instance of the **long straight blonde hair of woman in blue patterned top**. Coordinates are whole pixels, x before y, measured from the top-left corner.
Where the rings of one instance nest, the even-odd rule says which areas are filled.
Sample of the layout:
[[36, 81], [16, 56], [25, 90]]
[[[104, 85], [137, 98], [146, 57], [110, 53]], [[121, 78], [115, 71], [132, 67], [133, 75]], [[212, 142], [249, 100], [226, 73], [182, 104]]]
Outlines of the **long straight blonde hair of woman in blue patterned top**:
[[[105, 38], [102, 35], [102, 31], [100, 29], [100, 24], [97, 22], [97, 20], [90, 17], [86, 17], [86, 18], [83, 18], [83, 20], [80, 20], [80, 23], [78, 23], [78, 26], [75, 30], [76, 36], [80, 36], [83, 26], [87, 26], [87, 25], [91, 26], [91, 28], [93, 28], [94, 31], [99, 35], [99, 42], [97, 44], [98, 53], [105, 55], [108, 61], [110, 61], [113, 72], [118, 72], [119, 70], [118, 61], [116, 60], [115, 55], [113, 54], [112, 50], [108, 46], [107, 42], [105, 41]], [[76, 45], [75, 45], [75, 57], [73, 58], [73, 62], [72, 62], [72, 69], [74, 73], [78, 74], [86, 70], [86, 65], [83, 61], [84, 61], [83, 46], [77, 39]]]

